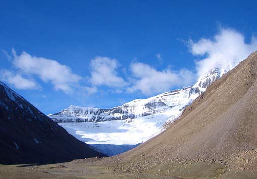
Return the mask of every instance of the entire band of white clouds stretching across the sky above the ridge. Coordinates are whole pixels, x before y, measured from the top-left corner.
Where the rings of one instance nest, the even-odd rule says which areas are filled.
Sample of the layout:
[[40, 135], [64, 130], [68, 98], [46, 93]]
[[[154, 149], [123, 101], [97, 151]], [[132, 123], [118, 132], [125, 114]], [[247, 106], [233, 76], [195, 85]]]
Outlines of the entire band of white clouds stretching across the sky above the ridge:
[[[32, 56], [25, 51], [17, 55], [13, 49], [12, 56], [6, 51], [3, 52], [11, 60], [15, 69], [1, 70], [0, 80], [18, 89], [39, 89], [38, 79], [41, 79], [51, 83], [54, 89], [69, 94], [74, 89], [78, 91], [77, 94], [83, 93], [83, 95], [91, 95], [107, 89], [113, 93], [141, 92], [149, 96], [192, 85], [198, 76], [202, 76], [213, 68], [232, 69], [257, 49], [257, 40], [252, 37], [251, 41], [246, 43], [241, 33], [233, 29], [221, 28], [214, 38], [202, 38], [198, 41], [189, 39], [187, 45], [190, 52], [198, 56], [195, 68], [190, 70], [174, 71], [169, 67], [157, 70], [135, 59], [132, 59], [129, 67], [125, 67], [117, 59], [96, 56], [89, 63], [90, 74], [87, 77], [73, 73], [68, 66], [53, 59]], [[160, 53], [155, 56], [160, 63], [163, 62]], [[87, 84], [81, 85], [83, 81]]]

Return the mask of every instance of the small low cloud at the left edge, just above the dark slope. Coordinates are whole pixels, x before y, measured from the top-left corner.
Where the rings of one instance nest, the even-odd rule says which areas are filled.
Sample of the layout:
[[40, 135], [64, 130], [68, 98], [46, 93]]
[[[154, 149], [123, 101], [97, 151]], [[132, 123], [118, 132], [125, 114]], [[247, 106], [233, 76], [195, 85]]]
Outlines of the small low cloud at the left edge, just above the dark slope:
[[34, 80], [26, 79], [20, 74], [8, 70], [0, 70], [0, 80], [13, 85], [17, 89], [39, 89], [41, 88]]

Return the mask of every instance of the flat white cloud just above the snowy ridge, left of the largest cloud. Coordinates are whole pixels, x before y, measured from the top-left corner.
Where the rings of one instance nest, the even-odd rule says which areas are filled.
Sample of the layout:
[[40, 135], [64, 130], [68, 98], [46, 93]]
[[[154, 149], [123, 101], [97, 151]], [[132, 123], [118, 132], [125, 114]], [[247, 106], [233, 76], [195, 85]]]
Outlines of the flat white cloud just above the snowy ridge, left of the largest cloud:
[[141, 91], [145, 95], [161, 93], [170, 90], [172, 87], [183, 87], [191, 85], [194, 74], [188, 70], [172, 72], [170, 69], [157, 71], [153, 67], [143, 63], [132, 63], [133, 86], [127, 91]]

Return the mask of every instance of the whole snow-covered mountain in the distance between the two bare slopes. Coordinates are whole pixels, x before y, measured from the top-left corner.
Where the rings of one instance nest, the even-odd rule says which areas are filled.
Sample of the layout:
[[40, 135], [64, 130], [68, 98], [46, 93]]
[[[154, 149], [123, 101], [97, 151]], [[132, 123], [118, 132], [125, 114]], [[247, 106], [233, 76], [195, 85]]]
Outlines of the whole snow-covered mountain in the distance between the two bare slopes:
[[227, 71], [215, 68], [192, 86], [121, 106], [100, 109], [71, 105], [49, 117], [88, 144], [136, 145], [159, 134], [166, 122], [176, 120], [186, 105]]

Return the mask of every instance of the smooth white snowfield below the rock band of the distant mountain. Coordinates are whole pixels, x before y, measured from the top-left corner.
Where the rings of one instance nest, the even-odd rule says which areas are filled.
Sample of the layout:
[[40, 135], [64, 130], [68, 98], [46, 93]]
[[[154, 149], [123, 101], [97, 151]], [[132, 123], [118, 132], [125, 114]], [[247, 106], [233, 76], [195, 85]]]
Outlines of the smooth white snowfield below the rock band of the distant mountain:
[[70, 134], [87, 144], [139, 144], [161, 132], [165, 114], [105, 122], [59, 123]]

